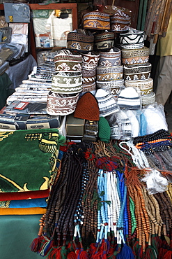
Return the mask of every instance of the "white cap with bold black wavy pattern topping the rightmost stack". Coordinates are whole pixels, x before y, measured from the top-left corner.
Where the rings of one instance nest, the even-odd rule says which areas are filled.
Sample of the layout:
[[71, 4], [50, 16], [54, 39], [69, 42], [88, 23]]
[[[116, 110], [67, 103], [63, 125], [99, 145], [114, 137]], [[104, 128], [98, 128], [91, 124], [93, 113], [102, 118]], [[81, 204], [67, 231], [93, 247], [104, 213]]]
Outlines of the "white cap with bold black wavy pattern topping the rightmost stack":
[[125, 34], [120, 34], [120, 47], [127, 49], [142, 48], [144, 46], [144, 31], [130, 29]]

